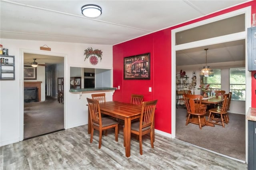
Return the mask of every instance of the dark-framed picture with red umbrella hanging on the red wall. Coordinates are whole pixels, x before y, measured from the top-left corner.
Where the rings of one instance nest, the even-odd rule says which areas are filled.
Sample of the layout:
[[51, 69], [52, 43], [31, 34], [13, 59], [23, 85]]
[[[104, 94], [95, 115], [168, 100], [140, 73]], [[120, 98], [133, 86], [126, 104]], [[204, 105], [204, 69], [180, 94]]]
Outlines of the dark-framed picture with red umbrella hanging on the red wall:
[[150, 79], [150, 53], [124, 58], [124, 79]]

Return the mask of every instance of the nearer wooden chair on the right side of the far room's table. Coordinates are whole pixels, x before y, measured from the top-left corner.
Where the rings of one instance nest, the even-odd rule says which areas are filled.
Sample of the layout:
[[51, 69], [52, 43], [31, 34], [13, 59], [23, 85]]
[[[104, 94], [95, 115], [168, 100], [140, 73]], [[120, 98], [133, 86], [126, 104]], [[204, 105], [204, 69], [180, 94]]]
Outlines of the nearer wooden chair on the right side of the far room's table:
[[[224, 122], [228, 124], [228, 116], [227, 116], [228, 96], [229, 94], [224, 95], [224, 101], [223, 101], [222, 107], [216, 107], [214, 109], [209, 110], [209, 113], [210, 113], [208, 117], [209, 122], [212, 122], [215, 125], [222, 125], [222, 127], [225, 127]], [[219, 117], [217, 117], [217, 115], [219, 115]]]

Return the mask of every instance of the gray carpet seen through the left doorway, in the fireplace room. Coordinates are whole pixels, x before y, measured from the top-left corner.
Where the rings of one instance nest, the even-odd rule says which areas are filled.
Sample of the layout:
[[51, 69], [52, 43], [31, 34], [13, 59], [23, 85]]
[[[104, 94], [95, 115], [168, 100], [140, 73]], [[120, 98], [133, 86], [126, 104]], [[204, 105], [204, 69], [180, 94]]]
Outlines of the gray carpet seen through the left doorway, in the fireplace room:
[[64, 104], [46, 97], [42, 102], [24, 103], [24, 139], [64, 128]]

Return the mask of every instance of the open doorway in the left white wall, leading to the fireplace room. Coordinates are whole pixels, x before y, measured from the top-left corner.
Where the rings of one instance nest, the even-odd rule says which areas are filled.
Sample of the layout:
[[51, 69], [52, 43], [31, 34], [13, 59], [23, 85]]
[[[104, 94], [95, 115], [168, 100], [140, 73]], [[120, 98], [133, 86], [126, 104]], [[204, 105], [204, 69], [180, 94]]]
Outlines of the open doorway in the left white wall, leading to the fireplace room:
[[[32, 138], [50, 132], [64, 129], [64, 102], [57, 99], [57, 77], [64, 77], [64, 57], [38, 53], [23, 53], [24, 67], [32, 68], [34, 77], [24, 77], [24, 89], [27, 84], [39, 89], [38, 100], [30, 101], [24, 94], [23, 138]], [[38, 66], [30, 67], [32, 59]], [[23, 125], [22, 124], [22, 125]]]

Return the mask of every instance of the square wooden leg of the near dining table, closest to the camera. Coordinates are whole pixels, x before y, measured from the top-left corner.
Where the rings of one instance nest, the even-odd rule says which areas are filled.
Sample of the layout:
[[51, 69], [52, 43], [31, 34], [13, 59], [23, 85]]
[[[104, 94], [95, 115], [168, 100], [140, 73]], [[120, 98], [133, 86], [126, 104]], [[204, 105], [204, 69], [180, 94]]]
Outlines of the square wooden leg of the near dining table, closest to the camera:
[[125, 135], [125, 156], [130, 157], [131, 153], [131, 118], [124, 119], [124, 135]]

